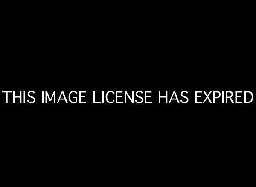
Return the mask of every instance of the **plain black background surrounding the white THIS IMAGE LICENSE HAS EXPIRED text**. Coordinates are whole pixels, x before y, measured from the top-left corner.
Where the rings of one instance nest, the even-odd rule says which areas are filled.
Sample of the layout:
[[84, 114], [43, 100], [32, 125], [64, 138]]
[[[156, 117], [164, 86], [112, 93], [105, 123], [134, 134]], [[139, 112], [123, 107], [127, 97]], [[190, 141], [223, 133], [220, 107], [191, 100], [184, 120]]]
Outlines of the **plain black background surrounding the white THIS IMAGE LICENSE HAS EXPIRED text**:
[[[255, 94], [247, 7], [42, 7], [3, 13], [1, 91], [152, 90], [154, 104], [2, 102], [5, 176], [131, 184], [250, 178], [255, 101], [196, 105], [193, 96]], [[157, 91], [183, 90], [187, 105], [157, 104]]]

